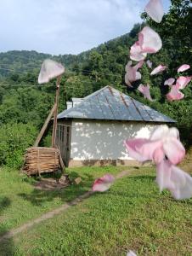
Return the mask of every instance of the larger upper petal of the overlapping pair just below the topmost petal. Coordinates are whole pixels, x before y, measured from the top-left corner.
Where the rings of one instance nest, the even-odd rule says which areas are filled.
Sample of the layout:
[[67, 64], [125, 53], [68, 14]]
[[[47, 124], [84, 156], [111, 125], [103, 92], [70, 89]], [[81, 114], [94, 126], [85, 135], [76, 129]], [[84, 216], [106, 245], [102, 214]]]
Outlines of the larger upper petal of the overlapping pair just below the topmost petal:
[[143, 53], [156, 53], [162, 47], [159, 34], [150, 26], [144, 26], [142, 31], [138, 33], [138, 44]]

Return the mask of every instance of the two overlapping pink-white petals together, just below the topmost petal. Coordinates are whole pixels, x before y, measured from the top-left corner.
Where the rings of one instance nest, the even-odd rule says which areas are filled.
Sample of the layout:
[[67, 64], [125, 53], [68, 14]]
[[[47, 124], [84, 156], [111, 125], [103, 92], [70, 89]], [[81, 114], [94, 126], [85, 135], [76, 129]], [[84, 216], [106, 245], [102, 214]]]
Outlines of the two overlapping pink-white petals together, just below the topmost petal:
[[142, 61], [148, 53], [156, 53], [162, 47], [162, 41], [157, 32], [149, 26], [144, 26], [138, 33], [138, 41], [130, 49], [130, 59]]

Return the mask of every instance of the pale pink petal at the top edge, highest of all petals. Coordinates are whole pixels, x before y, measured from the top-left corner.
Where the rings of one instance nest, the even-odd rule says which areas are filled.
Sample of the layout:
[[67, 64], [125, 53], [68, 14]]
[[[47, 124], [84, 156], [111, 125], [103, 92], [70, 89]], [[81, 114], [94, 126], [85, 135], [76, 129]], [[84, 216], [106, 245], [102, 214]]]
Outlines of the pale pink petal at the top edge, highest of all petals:
[[161, 0], [150, 0], [145, 7], [145, 11], [152, 20], [155, 20], [155, 22], [158, 23], [161, 22], [164, 15]]

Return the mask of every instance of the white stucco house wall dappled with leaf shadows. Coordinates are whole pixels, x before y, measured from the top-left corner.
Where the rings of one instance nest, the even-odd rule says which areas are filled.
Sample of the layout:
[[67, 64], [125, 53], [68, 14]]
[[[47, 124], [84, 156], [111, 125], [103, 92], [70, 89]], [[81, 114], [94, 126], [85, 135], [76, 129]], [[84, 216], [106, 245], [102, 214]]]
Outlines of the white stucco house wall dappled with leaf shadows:
[[131, 137], [150, 137], [158, 125], [136, 122], [73, 121], [71, 159], [132, 160], [123, 142]]

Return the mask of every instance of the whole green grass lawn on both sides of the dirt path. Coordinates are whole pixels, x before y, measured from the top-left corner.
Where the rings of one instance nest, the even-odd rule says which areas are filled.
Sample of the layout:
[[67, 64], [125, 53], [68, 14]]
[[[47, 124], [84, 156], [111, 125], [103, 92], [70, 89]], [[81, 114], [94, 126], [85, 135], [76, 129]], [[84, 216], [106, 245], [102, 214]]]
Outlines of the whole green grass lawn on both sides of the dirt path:
[[[4, 230], [71, 200], [86, 191], [94, 177], [110, 171], [118, 172], [116, 167], [76, 169], [82, 185], [55, 195], [37, 193], [31, 183], [9, 173], [10, 184], [2, 190]], [[95, 193], [67, 212], [2, 242], [0, 255], [126, 255], [129, 249], [138, 255], [192, 255], [192, 200], [174, 201], [167, 191], [160, 195], [154, 179], [150, 167], [133, 170], [109, 191]], [[1, 173], [0, 181], [5, 186], [8, 173]]]

